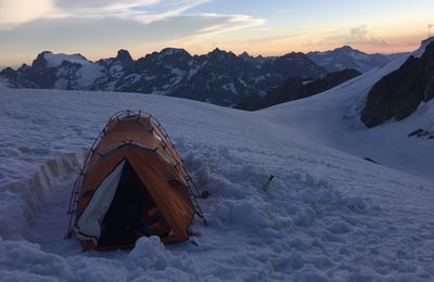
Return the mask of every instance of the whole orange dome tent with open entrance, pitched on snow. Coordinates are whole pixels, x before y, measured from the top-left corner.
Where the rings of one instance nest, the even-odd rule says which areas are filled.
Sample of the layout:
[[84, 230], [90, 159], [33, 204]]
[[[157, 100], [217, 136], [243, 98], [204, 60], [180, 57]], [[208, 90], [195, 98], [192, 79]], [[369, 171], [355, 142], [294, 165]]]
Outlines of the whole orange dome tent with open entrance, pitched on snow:
[[157, 220], [169, 227], [164, 235], [156, 232], [162, 241], [186, 241], [194, 214], [203, 218], [190, 183], [170, 139], [151, 115], [115, 114], [77, 178], [68, 234], [75, 233], [87, 251], [132, 247], [139, 236], [152, 235], [146, 213], [155, 209]]

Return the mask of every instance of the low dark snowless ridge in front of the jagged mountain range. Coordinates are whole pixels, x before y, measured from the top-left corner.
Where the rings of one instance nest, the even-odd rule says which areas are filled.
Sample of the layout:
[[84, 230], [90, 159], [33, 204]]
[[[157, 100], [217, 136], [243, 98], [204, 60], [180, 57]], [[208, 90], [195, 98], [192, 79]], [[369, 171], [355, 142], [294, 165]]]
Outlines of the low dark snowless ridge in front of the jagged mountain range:
[[282, 86], [270, 90], [267, 95], [244, 99], [235, 108], [256, 111], [304, 99], [327, 91], [361, 74], [356, 69], [344, 69], [328, 74], [326, 77], [316, 80], [291, 77]]

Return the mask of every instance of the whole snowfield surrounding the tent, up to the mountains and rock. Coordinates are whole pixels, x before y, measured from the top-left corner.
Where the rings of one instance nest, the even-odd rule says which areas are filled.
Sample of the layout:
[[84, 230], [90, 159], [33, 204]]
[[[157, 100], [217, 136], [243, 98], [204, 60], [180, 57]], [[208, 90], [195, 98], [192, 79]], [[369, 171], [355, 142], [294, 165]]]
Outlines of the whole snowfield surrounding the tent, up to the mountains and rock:
[[[370, 86], [403, 62], [254, 113], [159, 95], [1, 89], [1, 280], [433, 281], [434, 142], [407, 133], [433, 129], [434, 104], [374, 129], [357, 115]], [[199, 246], [142, 238], [131, 251], [82, 253], [64, 239], [82, 156], [123, 108], [153, 114], [210, 193], [200, 201], [209, 225], [192, 226]]]

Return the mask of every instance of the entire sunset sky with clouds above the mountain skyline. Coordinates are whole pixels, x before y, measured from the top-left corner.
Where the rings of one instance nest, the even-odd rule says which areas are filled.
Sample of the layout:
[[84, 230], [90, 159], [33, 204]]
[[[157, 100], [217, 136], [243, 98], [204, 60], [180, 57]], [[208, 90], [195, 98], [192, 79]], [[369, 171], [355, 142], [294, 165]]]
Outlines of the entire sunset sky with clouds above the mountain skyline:
[[411, 51], [434, 35], [433, 0], [0, 0], [0, 66], [38, 53], [89, 60], [165, 47], [253, 55]]

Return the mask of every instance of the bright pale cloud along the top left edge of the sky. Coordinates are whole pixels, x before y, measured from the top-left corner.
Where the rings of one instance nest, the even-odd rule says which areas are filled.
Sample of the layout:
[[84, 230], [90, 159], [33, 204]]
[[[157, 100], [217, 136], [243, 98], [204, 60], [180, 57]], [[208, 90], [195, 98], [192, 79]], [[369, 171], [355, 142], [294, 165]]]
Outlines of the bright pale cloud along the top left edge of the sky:
[[0, 0], [5, 28], [38, 18], [118, 17], [142, 23], [162, 21], [210, 0]]

